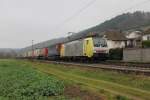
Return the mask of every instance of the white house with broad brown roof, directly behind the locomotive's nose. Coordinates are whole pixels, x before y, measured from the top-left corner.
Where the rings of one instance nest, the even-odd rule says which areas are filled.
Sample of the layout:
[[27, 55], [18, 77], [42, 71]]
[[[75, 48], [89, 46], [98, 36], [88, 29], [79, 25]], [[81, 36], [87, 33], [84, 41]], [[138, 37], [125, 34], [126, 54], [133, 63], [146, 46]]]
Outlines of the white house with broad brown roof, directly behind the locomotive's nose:
[[107, 40], [109, 49], [126, 47], [127, 38], [125, 37], [124, 33], [111, 30], [103, 32], [103, 37]]

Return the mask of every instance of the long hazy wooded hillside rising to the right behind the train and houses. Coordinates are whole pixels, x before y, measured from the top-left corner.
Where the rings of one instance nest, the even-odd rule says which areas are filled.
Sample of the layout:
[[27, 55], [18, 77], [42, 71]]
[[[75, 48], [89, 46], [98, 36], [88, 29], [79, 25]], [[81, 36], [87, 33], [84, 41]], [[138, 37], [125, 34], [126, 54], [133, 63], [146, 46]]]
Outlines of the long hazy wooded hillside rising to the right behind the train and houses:
[[[90, 32], [103, 32], [109, 29], [115, 30], [130, 30], [130, 29], [139, 29], [141, 27], [150, 26], [150, 12], [134, 12], [134, 13], [126, 13], [119, 15], [115, 18], [105, 21], [102, 24], [94, 26], [92, 28], [80, 31], [76, 34], [73, 34], [66, 38], [58, 38], [52, 39], [48, 41], [44, 41], [34, 45], [34, 48], [43, 48], [45, 46], [55, 45], [58, 43], [63, 43], [67, 41], [73, 41], [79, 38], [86, 37]], [[31, 50], [31, 46], [26, 47], [24, 50]]]

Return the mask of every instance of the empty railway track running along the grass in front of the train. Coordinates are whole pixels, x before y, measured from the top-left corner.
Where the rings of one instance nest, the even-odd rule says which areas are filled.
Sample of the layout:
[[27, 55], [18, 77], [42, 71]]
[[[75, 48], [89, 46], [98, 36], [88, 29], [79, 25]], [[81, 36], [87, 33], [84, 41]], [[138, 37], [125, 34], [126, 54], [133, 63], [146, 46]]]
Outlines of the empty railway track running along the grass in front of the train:
[[89, 67], [89, 68], [97, 68], [103, 70], [113, 70], [123, 73], [135, 73], [135, 74], [142, 74], [150, 76], [150, 67], [143, 67], [143, 66], [131, 66], [131, 65], [111, 65], [111, 64], [85, 64], [85, 63], [76, 63], [76, 62], [63, 62], [63, 61], [48, 61], [48, 60], [36, 60], [44, 63], [52, 63], [52, 64], [60, 64], [60, 65], [68, 65], [68, 66], [78, 66], [78, 67]]

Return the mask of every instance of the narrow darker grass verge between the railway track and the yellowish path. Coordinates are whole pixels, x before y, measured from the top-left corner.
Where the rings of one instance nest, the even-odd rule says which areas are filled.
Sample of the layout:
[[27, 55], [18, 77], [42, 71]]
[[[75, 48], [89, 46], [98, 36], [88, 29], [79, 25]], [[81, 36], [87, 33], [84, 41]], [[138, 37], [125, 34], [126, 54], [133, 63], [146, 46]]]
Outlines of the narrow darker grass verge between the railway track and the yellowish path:
[[77, 74], [93, 79], [109, 81], [113, 83], [118, 83], [134, 88], [139, 88], [142, 90], [150, 91], [150, 77], [135, 75], [135, 74], [123, 74], [113, 71], [104, 70], [81, 70], [80, 68], [64, 68], [60, 66], [55, 66], [57, 69], [61, 69], [66, 73]]

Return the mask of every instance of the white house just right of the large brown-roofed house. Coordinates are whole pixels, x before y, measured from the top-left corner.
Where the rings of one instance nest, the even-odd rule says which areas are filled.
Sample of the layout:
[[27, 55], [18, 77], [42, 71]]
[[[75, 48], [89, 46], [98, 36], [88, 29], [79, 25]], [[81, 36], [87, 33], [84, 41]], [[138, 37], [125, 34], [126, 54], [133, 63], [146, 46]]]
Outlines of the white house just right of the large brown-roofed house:
[[132, 32], [126, 33], [126, 38], [128, 39], [127, 47], [130, 47], [130, 48], [140, 47], [142, 34], [143, 33], [141, 31], [132, 31]]

